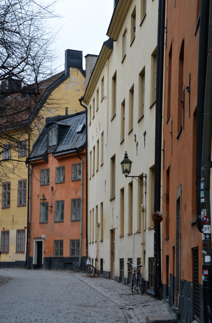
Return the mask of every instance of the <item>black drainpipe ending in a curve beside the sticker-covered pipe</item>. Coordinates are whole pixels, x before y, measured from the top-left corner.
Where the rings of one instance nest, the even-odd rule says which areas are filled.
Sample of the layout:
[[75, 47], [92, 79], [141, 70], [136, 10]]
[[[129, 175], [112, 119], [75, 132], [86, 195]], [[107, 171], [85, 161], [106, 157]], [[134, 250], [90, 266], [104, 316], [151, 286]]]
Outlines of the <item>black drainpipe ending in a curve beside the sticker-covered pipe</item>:
[[208, 40], [208, 14], [209, 1], [201, 0], [199, 23], [199, 58], [198, 58], [198, 83], [197, 83], [197, 134], [196, 134], [196, 214], [197, 228], [202, 232], [200, 182], [202, 158], [202, 133], [205, 103], [205, 82], [207, 68], [207, 40]]

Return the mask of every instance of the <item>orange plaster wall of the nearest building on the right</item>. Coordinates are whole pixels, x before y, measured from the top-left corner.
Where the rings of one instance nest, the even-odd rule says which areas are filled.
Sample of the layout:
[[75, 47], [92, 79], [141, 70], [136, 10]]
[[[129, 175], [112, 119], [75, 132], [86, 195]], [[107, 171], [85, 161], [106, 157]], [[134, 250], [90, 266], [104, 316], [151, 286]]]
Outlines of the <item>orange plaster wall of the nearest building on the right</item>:
[[[181, 195], [181, 279], [193, 281], [193, 257], [192, 248], [199, 247], [199, 282], [202, 282], [201, 260], [202, 260], [202, 237], [197, 230], [196, 223], [196, 187], [195, 187], [195, 165], [196, 165], [196, 117], [197, 107], [197, 72], [198, 72], [198, 45], [199, 29], [196, 36], [195, 30], [199, 11], [197, 2], [187, 0], [167, 1], [167, 50], [165, 49], [165, 93], [164, 93], [164, 140], [165, 157], [163, 171], [163, 193], [169, 193], [169, 203], [163, 202], [163, 284], [167, 284], [166, 255], [169, 255], [169, 274], [175, 275], [175, 255], [173, 246], [176, 243], [176, 193], [179, 185], [182, 185]], [[174, 3], [176, 7], [174, 8]], [[191, 10], [192, 9], [192, 10]], [[184, 39], [184, 72], [183, 88], [185, 86], [185, 126], [184, 130], [176, 139], [177, 109], [178, 102], [178, 71], [181, 44]], [[168, 119], [168, 71], [169, 51], [172, 45], [171, 64], [171, 93], [170, 93], [170, 117]], [[190, 118], [188, 113], [189, 73], [191, 73], [190, 92]], [[178, 118], [179, 119], [179, 118]], [[173, 129], [171, 130], [171, 121]], [[171, 133], [172, 131], [172, 156], [171, 156]], [[171, 169], [170, 169], [171, 165]], [[169, 170], [169, 192], [167, 183], [167, 170]], [[185, 210], [186, 203], [186, 210]], [[167, 215], [166, 215], [167, 212]], [[165, 225], [169, 224], [169, 232], [166, 234]], [[165, 240], [165, 238], [168, 238]], [[182, 276], [182, 270], [184, 276]]]

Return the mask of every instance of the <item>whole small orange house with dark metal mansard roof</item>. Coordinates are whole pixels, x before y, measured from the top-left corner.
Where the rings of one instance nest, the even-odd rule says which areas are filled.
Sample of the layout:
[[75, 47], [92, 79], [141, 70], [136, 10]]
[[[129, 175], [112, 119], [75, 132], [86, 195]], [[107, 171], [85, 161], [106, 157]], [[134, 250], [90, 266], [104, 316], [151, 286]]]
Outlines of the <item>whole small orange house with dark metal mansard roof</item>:
[[[31, 268], [78, 269], [85, 255], [85, 123], [84, 111], [46, 118], [29, 156]], [[45, 206], [40, 200], [43, 195]]]

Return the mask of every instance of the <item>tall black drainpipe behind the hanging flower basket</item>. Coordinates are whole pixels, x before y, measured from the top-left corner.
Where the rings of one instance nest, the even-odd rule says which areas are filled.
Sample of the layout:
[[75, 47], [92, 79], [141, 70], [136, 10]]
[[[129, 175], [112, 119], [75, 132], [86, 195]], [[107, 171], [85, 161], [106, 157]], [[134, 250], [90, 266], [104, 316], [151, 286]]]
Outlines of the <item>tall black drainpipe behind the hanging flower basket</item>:
[[[155, 189], [154, 211], [160, 211], [161, 193], [161, 143], [162, 143], [162, 111], [163, 111], [163, 64], [165, 33], [166, 0], [158, 1], [157, 30], [157, 73], [156, 73], [156, 126], [155, 126]], [[154, 224], [154, 297], [161, 287], [161, 247], [160, 224]]]

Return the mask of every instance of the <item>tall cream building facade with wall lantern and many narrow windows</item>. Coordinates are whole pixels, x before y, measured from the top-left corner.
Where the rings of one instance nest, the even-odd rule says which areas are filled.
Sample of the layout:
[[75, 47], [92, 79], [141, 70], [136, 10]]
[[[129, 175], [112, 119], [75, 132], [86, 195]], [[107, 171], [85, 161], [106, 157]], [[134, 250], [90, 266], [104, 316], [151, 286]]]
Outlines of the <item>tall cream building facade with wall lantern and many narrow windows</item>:
[[[107, 31], [110, 38], [103, 43], [83, 99], [88, 106], [88, 254], [100, 274], [125, 284], [130, 280], [127, 262], [141, 263], [149, 291], [157, 15], [157, 0], [116, 3]], [[133, 161], [130, 175], [146, 175], [137, 178], [146, 185], [122, 174], [125, 151]]]

